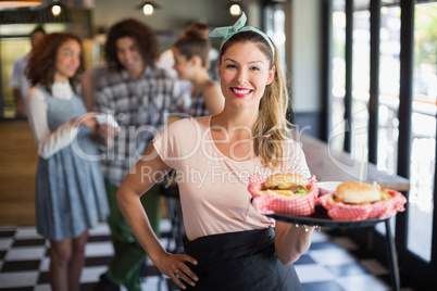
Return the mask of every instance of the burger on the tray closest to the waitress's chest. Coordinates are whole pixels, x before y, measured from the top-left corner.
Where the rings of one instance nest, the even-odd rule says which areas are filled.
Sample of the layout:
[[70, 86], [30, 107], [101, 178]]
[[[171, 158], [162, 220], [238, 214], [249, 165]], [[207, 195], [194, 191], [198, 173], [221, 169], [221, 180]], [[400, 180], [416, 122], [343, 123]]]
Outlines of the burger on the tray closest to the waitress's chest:
[[296, 173], [274, 174], [267, 177], [261, 193], [286, 197], [307, 194], [311, 191], [308, 184], [309, 180], [305, 177]]

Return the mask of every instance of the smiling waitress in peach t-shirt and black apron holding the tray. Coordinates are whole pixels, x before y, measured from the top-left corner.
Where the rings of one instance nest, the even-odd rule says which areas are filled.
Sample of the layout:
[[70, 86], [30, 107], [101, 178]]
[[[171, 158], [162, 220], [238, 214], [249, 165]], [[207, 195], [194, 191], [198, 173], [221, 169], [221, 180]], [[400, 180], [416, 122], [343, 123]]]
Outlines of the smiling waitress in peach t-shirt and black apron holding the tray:
[[[223, 38], [218, 76], [224, 110], [172, 123], [117, 192], [136, 238], [158, 269], [182, 289], [302, 290], [292, 263], [310, 248], [313, 227], [273, 222], [259, 213], [251, 204], [248, 177], [292, 172], [310, 178], [311, 173], [303, 151], [288, 138], [289, 96], [277, 49], [245, 23], [242, 14], [234, 26], [210, 35]], [[171, 169], [179, 180], [184, 254], [162, 248], [139, 202]]]

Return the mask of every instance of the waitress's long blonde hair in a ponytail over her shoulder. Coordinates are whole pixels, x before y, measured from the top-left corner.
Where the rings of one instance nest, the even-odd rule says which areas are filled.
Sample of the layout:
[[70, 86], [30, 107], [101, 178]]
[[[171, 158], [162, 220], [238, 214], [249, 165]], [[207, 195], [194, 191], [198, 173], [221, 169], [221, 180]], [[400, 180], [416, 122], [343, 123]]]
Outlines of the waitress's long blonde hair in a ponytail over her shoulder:
[[264, 165], [276, 169], [284, 157], [284, 141], [291, 130], [291, 123], [287, 119], [289, 94], [280, 71], [277, 49], [272, 42], [275, 50], [273, 53], [267, 41], [255, 31], [241, 31], [223, 45], [220, 55], [222, 58], [232, 45], [247, 41], [255, 43], [266, 55], [270, 68], [276, 68], [273, 81], [265, 87], [259, 118], [252, 128], [257, 154], [261, 156]]

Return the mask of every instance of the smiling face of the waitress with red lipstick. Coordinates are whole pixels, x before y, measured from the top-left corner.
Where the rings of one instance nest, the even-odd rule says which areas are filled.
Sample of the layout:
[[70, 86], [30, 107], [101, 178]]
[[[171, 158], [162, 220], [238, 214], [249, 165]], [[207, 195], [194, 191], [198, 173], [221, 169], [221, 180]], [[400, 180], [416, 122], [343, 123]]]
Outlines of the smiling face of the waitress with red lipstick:
[[218, 76], [226, 103], [237, 107], [259, 106], [275, 67], [257, 45], [236, 42], [227, 48], [218, 63]]

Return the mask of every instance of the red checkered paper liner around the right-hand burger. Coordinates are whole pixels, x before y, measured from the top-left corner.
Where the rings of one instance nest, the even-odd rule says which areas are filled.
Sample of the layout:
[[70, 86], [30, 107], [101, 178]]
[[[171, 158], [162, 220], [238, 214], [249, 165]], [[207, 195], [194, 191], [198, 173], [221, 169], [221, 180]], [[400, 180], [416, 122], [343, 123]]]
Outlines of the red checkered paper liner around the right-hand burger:
[[321, 203], [327, 211], [327, 215], [334, 220], [364, 220], [372, 218], [387, 218], [394, 216], [397, 212], [403, 212], [403, 204], [407, 199], [397, 191], [388, 190], [390, 199], [369, 203], [364, 205], [352, 205], [334, 201], [334, 194], [321, 195], [317, 203]]

